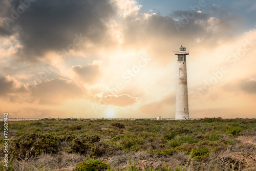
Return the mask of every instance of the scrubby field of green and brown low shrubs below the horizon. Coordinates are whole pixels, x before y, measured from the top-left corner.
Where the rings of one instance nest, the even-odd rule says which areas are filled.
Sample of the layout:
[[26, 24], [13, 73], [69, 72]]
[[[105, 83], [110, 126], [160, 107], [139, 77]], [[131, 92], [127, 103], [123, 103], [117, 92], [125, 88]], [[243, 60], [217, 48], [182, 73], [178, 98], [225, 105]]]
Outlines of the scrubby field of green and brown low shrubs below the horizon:
[[8, 123], [0, 170], [256, 170], [256, 119]]

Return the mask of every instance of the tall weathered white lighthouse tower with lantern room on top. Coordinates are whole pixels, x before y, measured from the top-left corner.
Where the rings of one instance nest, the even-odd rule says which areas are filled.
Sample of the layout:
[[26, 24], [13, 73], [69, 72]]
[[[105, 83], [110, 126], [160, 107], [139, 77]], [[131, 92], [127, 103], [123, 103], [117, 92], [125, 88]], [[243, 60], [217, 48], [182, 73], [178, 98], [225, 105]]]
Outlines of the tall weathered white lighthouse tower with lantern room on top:
[[181, 46], [180, 51], [174, 52], [178, 55], [178, 68], [177, 68], [177, 90], [176, 90], [176, 111], [175, 119], [183, 120], [188, 119], [188, 96], [187, 96], [187, 66], [186, 55], [189, 52], [186, 48]]

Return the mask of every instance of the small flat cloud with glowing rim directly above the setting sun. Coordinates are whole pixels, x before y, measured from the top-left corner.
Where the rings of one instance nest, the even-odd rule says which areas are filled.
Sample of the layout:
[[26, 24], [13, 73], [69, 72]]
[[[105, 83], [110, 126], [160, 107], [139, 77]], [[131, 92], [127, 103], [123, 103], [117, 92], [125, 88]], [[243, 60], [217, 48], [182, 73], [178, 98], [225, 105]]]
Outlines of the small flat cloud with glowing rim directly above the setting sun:
[[139, 98], [138, 97], [131, 97], [127, 94], [122, 95], [109, 95], [105, 96], [101, 99], [101, 104], [112, 104], [117, 106], [127, 106], [133, 105]]

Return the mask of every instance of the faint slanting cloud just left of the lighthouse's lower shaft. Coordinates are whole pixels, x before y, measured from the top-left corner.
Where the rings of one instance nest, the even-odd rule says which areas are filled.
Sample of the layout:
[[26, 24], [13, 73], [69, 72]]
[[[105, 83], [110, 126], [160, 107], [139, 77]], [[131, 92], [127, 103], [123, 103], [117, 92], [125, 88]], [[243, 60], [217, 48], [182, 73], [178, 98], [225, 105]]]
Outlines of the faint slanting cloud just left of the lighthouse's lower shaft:
[[175, 94], [169, 94], [163, 97], [160, 101], [154, 101], [151, 103], [144, 104], [140, 106], [140, 111], [147, 114], [157, 114], [162, 111], [162, 108], [166, 105], [174, 105], [176, 100]]

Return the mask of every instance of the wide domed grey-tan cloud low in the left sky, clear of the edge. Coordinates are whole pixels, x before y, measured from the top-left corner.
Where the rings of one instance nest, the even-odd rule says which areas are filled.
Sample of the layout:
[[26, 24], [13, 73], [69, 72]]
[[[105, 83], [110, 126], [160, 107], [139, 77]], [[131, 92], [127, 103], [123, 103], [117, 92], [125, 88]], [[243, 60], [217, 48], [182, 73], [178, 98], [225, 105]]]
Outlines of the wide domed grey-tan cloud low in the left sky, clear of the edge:
[[74, 82], [67, 79], [47, 79], [32, 89], [32, 97], [40, 104], [61, 104], [67, 99], [82, 97], [84, 91]]

